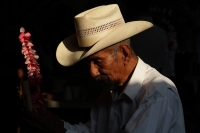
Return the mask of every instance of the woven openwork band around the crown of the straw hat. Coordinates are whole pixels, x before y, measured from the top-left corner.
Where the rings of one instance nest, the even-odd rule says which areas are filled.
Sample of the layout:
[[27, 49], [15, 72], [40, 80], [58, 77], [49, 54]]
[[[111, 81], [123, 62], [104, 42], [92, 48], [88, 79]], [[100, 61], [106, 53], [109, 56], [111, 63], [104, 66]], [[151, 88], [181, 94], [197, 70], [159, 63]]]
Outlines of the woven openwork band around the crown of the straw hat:
[[86, 36], [91, 36], [91, 35], [94, 35], [96, 33], [100, 33], [100, 32], [103, 32], [105, 30], [109, 30], [115, 26], [118, 26], [118, 25], [121, 25], [121, 24], [124, 24], [124, 19], [123, 18], [120, 18], [120, 19], [117, 19], [117, 20], [114, 20], [112, 22], [109, 22], [109, 23], [106, 23], [106, 24], [103, 24], [103, 25], [100, 25], [100, 26], [97, 26], [97, 27], [93, 27], [93, 28], [89, 28], [89, 29], [85, 29], [85, 30], [78, 30], [77, 31], [77, 34], [81, 37], [86, 37]]

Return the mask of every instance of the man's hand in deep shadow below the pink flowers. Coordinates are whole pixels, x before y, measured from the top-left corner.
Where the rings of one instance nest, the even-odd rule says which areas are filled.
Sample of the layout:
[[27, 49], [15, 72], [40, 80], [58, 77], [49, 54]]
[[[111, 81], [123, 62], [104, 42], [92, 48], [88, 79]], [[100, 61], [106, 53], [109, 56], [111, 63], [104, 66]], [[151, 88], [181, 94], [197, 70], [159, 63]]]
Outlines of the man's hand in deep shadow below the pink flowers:
[[28, 133], [65, 133], [61, 119], [45, 109], [43, 112], [24, 110], [23, 124]]

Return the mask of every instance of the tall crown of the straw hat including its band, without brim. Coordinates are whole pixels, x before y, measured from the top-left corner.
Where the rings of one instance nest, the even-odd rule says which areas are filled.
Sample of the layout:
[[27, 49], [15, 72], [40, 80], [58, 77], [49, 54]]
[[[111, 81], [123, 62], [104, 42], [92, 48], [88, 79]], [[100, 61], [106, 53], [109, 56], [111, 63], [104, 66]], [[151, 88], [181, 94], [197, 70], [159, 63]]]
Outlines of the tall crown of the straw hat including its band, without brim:
[[91, 47], [112, 30], [125, 24], [117, 4], [86, 10], [74, 17], [74, 23], [80, 47]]

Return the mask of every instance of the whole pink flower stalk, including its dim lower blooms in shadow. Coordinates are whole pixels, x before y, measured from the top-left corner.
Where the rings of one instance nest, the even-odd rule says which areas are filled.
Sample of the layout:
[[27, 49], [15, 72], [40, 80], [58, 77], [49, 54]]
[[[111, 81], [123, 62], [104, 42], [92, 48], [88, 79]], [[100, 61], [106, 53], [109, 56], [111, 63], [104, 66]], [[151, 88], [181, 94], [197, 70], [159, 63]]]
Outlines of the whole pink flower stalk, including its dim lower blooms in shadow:
[[25, 64], [27, 64], [27, 74], [28, 80], [31, 86], [36, 86], [37, 89], [31, 95], [32, 103], [37, 111], [42, 111], [44, 109], [43, 100], [44, 96], [38, 89], [39, 85], [42, 83], [42, 75], [40, 74], [40, 67], [37, 59], [39, 56], [36, 54], [36, 50], [32, 49], [34, 46], [30, 40], [31, 34], [29, 32], [25, 33], [23, 27], [20, 28], [19, 41], [22, 43], [21, 53], [24, 55]]

